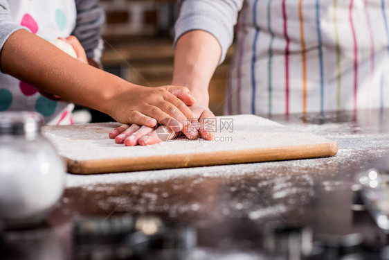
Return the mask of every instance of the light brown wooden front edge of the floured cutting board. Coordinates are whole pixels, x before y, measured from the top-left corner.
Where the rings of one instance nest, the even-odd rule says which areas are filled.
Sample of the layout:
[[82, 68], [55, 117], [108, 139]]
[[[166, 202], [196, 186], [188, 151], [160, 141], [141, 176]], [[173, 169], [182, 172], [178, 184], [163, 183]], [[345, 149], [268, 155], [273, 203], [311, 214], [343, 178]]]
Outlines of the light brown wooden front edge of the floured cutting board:
[[150, 171], [167, 168], [187, 168], [215, 166], [222, 164], [242, 164], [272, 162], [288, 159], [310, 159], [331, 157], [338, 152], [336, 141], [325, 144], [286, 146], [275, 148], [255, 148], [248, 150], [215, 151], [187, 155], [158, 155], [115, 159], [95, 159], [75, 161], [66, 158], [69, 173], [88, 175], [96, 173], [118, 173], [130, 171]]

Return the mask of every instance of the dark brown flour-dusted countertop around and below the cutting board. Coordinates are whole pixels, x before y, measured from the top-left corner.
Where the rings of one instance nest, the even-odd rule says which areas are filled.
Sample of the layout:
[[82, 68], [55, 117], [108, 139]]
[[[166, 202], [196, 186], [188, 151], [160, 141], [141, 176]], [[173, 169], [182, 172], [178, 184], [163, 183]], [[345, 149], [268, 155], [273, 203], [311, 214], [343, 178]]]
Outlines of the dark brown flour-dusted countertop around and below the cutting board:
[[[62, 259], [95, 259], [82, 258], [86, 253], [75, 250], [71, 234], [75, 219], [152, 215], [190, 227], [197, 238], [196, 248], [206, 248], [215, 255], [238, 256], [236, 259], [260, 259], [273, 227], [307, 227], [314, 241], [328, 237], [338, 241], [359, 233], [365, 245], [386, 245], [386, 235], [372, 218], [364, 211], [351, 209], [351, 187], [357, 173], [374, 166], [389, 169], [388, 119], [389, 110], [271, 118], [337, 141], [335, 157], [67, 175], [64, 196], [45, 225], [8, 231], [4, 237], [16, 244], [38, 237], [43, 252], [45, 246], [48, 252], [54, 247], [57, 251], [52, 253], [62, 254]], [[197, 258], [191, 259], [213, 259], [201, 258], [207, 255], [204, 252], [197, 252]]]

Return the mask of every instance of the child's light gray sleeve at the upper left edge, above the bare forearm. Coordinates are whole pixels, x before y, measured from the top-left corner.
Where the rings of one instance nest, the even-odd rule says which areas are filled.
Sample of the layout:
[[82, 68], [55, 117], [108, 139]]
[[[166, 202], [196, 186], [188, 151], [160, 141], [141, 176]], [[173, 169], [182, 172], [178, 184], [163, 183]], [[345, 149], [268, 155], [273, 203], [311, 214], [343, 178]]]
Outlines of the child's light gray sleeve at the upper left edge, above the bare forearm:
[[[15, 23], [10, 13], [10, 5], [7, 0], [0, 0], [0, 51], [12, 33], [19, 29], [27, 29]], [[27, 29], [28, 30], [28, 29]]]

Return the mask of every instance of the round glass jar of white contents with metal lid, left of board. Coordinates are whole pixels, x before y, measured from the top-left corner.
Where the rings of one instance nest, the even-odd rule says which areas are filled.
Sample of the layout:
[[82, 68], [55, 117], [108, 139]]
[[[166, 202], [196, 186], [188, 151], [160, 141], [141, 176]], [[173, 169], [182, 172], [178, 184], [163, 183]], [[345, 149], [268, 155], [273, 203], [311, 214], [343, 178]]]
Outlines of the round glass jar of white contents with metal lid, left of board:
[[65, 166], [40, 135], [42, 116], [0, 112], [0, 222], [42, 222], [64, 191]]

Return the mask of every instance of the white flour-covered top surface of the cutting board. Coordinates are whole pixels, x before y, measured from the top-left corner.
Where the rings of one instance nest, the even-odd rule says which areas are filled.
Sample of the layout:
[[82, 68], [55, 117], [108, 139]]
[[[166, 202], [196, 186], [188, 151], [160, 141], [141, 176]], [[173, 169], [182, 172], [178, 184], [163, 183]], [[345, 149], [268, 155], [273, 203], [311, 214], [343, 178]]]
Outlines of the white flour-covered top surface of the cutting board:
[[215, 154], [226, 150], [302, 146], [331, 142], [314, 135], [301, 134], [292, 128], [284, 128], [278, 123], [253, 115], [220, 116], [217, 125], [219, 128], [212, 141], [178, 139], [152, 146], [133, 147], [115, 144], [114, 140], [108, 138], [108, 133], [118, 126], [116, 123], [69, 125], [60, 128], [46, 126], [42, 133], [53, 143], [62, 157], [78, 161], [123, 157], [170, 157], [188, 153]]

